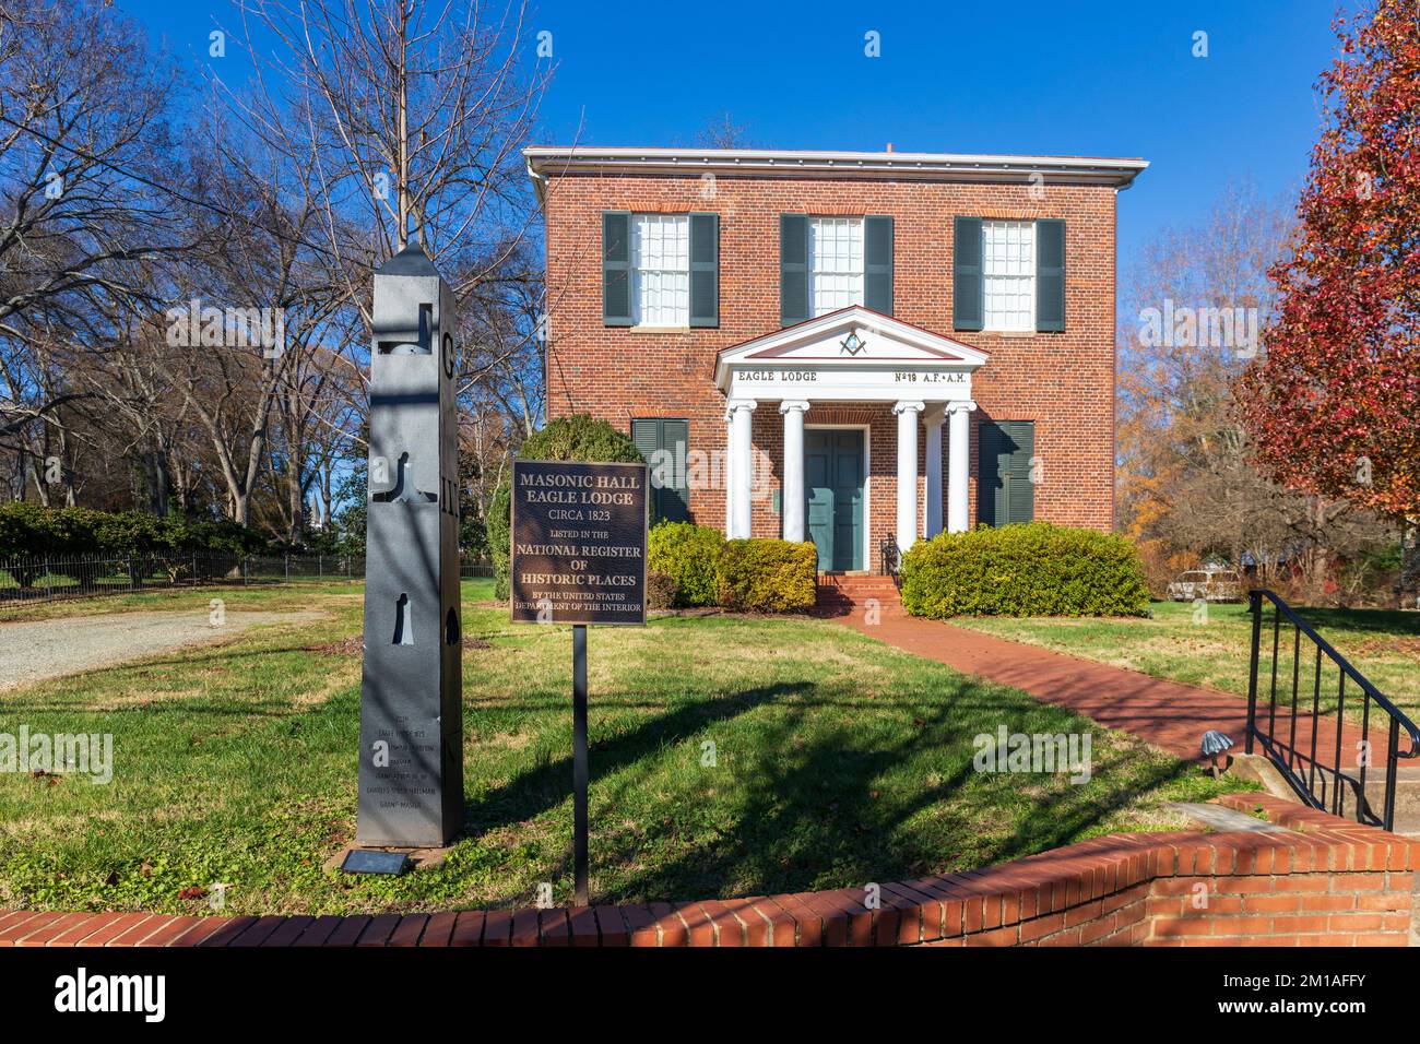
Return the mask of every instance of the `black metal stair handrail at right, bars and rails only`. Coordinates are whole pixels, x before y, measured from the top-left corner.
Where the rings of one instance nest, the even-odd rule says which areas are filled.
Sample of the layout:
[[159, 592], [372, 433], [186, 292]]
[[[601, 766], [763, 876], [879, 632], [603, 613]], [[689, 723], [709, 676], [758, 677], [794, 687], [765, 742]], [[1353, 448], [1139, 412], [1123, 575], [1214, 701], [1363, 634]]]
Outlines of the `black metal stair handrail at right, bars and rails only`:
[[[1272, 604], [1272, 665], [1271, 665], [1271, 685], [1268, 689], [1268, 709], [1265, 727], [1258, 722], [1258, 668], [1261, 660], [1261, 645], [1262, 645], [1262, 599]], [[1414, 722], [1406, 716], [1394, 703], [1387, 700], [1382, 692], [1370, 683], [1370, 680], [1362, 675], [1350, 662], [1342, 656], [1336, 649], [1332, 648], [1331, 642], [1322, 638], [1316, 631], [1302, 619], [1296, 612], [1277, 597], [1272, 591], [1257, 589], [1248, 595], [1248, 612], [1252, 614], [1252, 652], [1251, 663], [1248, 668], [1248, 687], [1247, 687], [1247, 744], [1245, 750], [1248, 754], [1252, 753], [1254, 739], [1262, 746], [1262, 753], [1267, 754], [1268, 760], [1277, 766], [1287, 778], [1292, 790], [1296, 791], [1298, 797], [1306, 801], [1315, 808], [1322, 811], [1329, 811], [1333, 815], [1346, 815], [1346, 791], [1352, 791], [1355, 795], [1355, 805], [1352, 814], [1358, 822], [1366, 822], [1373, 827], [1382, 827], [1383, 830], [1392, 830], [1396, 818], [1396, 771], [1399, 767], [1399, 758], [1411, 758], [1420, 754], [1420, 729], [1416, 727]], [[1285, 736], [1278, 734], [1277, 727], [1277, 673], [1278, 673], [1278, 649], [1282, 632], [1282, 622], [1292, 628], [1292, 700], [1291, 713], [1288, 714], [1289, 722], [1284, 723], [1282, 732]], [[1306, 710], [1305, 703], [1301, 705], [1301, 713], [1304, 719], [1309, 719], [1311, 727], [1306, 730], [1309, 737], [1304, 733], [1302, 747], [1296, 743], [1296, 724], [1298, 724], [1298, 706], [1301, 699], [1301, 666], [1302, 666], [1302, 636], [1315, 646], [1315, 665], [1312, 673], [1312, 707], [1311, 712]], [[1321, 710], [1321, 696], [1322, 696], [1322, 658], [1326, 658], [1336, 668], [1336, 722], [1335, 722], [1335, 757], [1328, 758], [1325, 753], [1318, 757], [1316, 753], [1316, 737], [1322, 730], [1323, 714]], [[1343, 767], [1342, 751], [1345, 749], [1343, 743], [1343, 729], [1346, 722], [1346, 679], [1352, 683], [1360, 693], [1362, 707], [1360, 707], [1360, 750], [1356, 758], [1355, 774], [1349, 774]], [[1285, 686], [1285, 678], [1284, 678]], [[1284, 710], [1287, 693], [1284, 689]], [[1355, 696], [1352, 697], [1355, 699]], [[1377, 814], [1372, 807], [1370, 800], [1366, 795], [1366, 770], [1370, 767], [1370, 717], [1372, 706], [1377, 712], [1383, 712], [1389, 724], [1386, 726], [1386, 787], [1384, 797], [1382, 800], [1382, 811]], [[1355, 712], [1352, 712], [1355, 713]], [[1328, 723], [1329, 726], [1329, 723]], [[1404, 730], [1406, 739], [1410, 741], [1410, 749], [1400, 750], [1400, 732]], [[1309, 741], [1308, 741], [1309, 740]]]

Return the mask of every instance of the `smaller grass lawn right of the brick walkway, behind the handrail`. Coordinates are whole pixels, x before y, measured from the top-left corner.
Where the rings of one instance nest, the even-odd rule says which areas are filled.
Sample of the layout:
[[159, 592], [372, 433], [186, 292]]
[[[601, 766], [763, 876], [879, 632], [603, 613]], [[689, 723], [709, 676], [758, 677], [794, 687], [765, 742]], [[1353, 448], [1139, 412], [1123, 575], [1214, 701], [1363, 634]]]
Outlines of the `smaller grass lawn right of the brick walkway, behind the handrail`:
[[[1210, 605], [1196, 622], [1189, 602], [1154, 602], [1153, 619], [960, 618], [964, 628], [1044, 645], [1072, 656], [1142, 670], [1190, 685], [1247, 696], [1252, 618], [1247, 605]], [[1420, 612], [1396, 609], [1299, 609], [1322, 638], [1376, 687], [1420, 722]], [[1271, 609], [1262, 619], [1264, 672], [1271, 658]], [[1278, 697], [1291, 700], [1292, 631], [1285, 621], [1278, 642]], [[1315, 648], [1302, 638], [1302, 697], [1311, 700]], [[1264, 679], [1269, 685], [1271, 676]], [[1325, 675], [1322, 706], [1335, 706], [1336, 672]], [[1348, 692], [1355, 686], [1348, 685]], [[1265, 697], [1265, 692], [1262, 696]], [[1328, 699], [1331, 697], [1331, 699]]]

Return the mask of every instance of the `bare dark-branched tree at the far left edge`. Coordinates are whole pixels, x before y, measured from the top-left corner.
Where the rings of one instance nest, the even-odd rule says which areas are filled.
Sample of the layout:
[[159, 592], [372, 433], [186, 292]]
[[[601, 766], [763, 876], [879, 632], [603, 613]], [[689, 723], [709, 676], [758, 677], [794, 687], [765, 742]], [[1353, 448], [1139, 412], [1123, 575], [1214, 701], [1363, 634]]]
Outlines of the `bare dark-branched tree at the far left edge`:
[[148, 294], [125, 263], [180, 250], [160, 166], [173, 81], [108, 4], [0, 4], [0, 446], [21, 462], [20, 496], [28, 479], [48, 501], [37, 450], [71, 455], [65, 416], [87, 395], [67, 379], [74, 342]]

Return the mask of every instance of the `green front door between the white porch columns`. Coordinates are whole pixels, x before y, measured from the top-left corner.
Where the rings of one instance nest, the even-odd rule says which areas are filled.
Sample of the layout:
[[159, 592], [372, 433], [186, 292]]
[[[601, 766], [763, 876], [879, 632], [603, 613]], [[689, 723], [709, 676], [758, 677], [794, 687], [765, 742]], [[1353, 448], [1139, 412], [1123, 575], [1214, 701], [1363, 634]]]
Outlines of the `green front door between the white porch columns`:
[[863, 433], [804, 432], [804, 486], [819, 571], [863, 568]]

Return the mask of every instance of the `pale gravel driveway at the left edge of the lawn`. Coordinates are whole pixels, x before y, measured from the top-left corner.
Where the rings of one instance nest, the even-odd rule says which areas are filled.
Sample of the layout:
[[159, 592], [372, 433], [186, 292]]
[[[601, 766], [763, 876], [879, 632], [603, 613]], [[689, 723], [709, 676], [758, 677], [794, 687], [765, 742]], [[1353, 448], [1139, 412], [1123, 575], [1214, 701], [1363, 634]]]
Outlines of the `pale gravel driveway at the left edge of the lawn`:
[[257, 624], [307, 624], [321, 612], [111, 612], [0, 624], [0, 690], [231, 638]]

